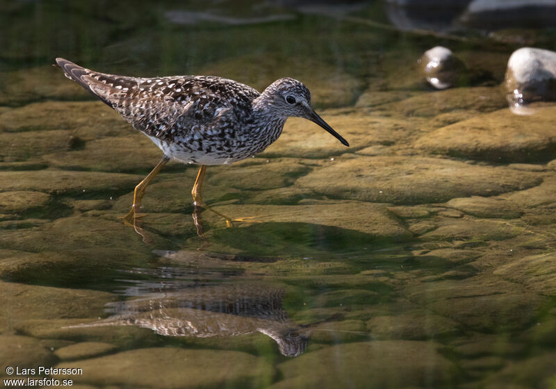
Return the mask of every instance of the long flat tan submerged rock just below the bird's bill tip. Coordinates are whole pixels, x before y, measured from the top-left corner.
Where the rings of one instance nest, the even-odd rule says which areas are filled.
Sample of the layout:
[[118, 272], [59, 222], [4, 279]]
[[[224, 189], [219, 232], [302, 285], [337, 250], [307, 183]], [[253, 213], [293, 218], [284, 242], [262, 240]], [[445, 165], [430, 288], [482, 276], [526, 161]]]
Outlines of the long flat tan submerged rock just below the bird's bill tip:
[[[330, 185], [330, 182], [338, 185]], [[360, 157], [307, 174], [296, 185], [329, 197], [395, 204], [425, 204], [529, 188], [537, 174], [422, 157]]]

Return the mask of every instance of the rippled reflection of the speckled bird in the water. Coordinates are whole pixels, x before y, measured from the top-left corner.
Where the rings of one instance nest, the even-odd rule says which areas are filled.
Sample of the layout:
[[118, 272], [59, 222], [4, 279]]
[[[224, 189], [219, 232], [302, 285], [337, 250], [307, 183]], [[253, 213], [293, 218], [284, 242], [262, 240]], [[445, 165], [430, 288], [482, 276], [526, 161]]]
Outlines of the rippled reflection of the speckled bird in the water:
[[[292, 322], [284, 308], [284, 290], [265, 285], [218, 284], [155, 292], [139, 299], [107, 304], [110, 317], [83, 326], [134, 325], [163, 336], [195, 338], [260, 332], [278, 344], [284, 356], [302, 354], [318, 323]], [[334, 320], [331, 317], [328, 320]]]

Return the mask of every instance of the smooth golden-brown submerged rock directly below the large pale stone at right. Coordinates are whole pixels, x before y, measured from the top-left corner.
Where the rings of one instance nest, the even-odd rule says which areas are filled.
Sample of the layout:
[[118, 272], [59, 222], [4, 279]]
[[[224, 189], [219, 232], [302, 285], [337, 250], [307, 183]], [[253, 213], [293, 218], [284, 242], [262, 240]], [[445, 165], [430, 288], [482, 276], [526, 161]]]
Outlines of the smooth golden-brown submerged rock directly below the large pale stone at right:
[[556, 156], [555, 119], [553, 107], [539, 108], [534, 119], [497, 110], [441, 127], [423, 135], [415, 146], [435, 154], [479, 160], [542, 162]]

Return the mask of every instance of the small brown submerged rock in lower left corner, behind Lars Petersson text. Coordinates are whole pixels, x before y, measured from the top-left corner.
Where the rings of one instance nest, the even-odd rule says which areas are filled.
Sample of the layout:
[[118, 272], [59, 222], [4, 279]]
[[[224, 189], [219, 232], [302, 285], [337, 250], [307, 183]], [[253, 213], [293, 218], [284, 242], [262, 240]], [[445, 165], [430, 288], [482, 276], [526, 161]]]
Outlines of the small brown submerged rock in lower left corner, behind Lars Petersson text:
[[[42, 347], [39, 340], [28, 336], [0, 335], [0, 376], [8, 376], [6, 367], [17, 367], [20, 371], [24, 368], [49, 366], [56, 362], [52, 351]], [[33, 374], [31, 374], [33, 375]], [[17, 376], [16, 376], [17, 377]]]

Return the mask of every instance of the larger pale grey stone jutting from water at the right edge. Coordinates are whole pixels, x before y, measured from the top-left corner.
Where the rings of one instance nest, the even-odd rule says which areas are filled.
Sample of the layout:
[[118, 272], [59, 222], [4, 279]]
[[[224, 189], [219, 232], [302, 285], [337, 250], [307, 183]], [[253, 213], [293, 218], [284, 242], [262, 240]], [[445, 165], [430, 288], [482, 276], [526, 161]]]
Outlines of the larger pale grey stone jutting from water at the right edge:
[[523, 106], [534, 101], [556, 101], [556, 52], [522, 47], [509, 57], [506, 99], [512, 112], [528, 115]]

